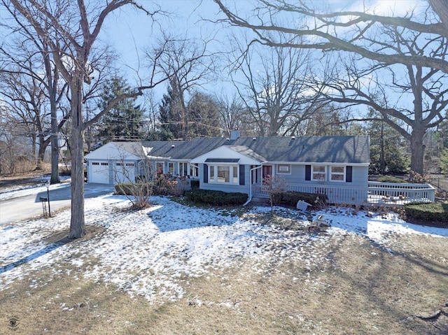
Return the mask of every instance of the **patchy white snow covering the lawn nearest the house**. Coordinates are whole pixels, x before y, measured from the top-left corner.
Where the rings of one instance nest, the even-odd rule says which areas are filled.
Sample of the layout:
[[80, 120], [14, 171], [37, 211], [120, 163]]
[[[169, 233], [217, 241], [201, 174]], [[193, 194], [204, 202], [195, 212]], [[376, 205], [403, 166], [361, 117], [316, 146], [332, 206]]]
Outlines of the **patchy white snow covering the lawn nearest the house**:
[[[191, 208], [164, 197], [151, 201], [151, 208], [130, 212], [124, 210], [130, 205], [125, 197], [109, 194], [85, 199], [86, 224], [103, 231], [68, 244], [49, 243], [45, 238], [68, 228], [69, 211], [0, 228], [0, 290], [17, 278], [38, 278], [35, 271], [51, 266], [55, 276], [74, 269], [75, 276], [114, 283], [149, 301], [180, 299], [190, 278], [214, 268], [237, 266], [245, 259], [252, 260], [259, 271], [285, 257], [302, 257], [307, 266], [318, 265], [325, 262], [322, 246], [332, 236], [360, 234], [379, 244], [391, 233], [448, 236], [448, 229], [408, 224], [393, 214], [369, 217], [344, 208], [314, 213], [314, 217], [323, 214], [332, 227], [327, 234], [309, 235], [253, 220], [251, 214], [267, 213], [270, 208], [266, 207], [252, 208], [239, 218], [228, 211]], [[285, 218], [306, 220], [297, 211], [275, 211]], [[67, 269], [64, 264], [69, 264]], [[34, 280], [32, 285], [45, 283]]]

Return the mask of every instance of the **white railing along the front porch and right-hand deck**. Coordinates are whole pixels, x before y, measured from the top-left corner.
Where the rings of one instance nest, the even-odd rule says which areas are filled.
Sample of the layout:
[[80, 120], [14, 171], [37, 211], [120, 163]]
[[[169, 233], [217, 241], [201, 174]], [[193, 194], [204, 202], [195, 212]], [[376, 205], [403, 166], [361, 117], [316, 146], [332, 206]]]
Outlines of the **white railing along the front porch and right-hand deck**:
[[[260, 185], [252, 185], [255, 197], [269, 198]], [[288, 191], [326, 194], [329, 204], [384, 204], [402, 206], [410, 202], [433, 202], [435, 188], [429, 184], [368, 182], [367, 187], [347, 185], [288, 184]]]

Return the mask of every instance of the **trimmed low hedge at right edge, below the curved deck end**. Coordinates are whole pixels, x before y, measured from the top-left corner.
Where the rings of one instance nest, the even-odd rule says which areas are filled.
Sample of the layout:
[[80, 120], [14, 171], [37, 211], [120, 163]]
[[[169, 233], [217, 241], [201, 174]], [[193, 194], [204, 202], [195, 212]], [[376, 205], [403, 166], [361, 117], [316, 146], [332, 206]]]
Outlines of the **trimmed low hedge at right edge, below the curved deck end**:
[[448, 204], [409, 204], [405, 206], [405, 215], [409, 220], [421, 220], [430, 225], [448, 227]]

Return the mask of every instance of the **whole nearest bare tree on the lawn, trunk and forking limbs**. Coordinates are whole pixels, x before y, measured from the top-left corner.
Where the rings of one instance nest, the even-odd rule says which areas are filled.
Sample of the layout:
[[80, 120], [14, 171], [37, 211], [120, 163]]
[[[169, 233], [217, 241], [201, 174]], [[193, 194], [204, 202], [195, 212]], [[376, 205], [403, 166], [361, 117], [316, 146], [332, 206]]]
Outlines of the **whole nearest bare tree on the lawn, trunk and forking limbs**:
[[[45, 40], [55, 66], [69, 86], [71, 113], [71, 222], [69, 238], [85, 234], [83, 133], [86, 127], [109, 112], [121, 99], [137, 97], [155, 83], [142, 85], [132, 93], [120, 94], [89, 122], [83, 117], [84, 86], [92, 82], [94, 43], [104, 21], [123, 6], [139, 6], [133, 0], [86, 3], [83, 0], [10, 0], [39, 38]], [[154, 15], [146, 11], [148, 15]], [[163, 79], [165, 80], [165, 78]], [[162, 80], [161, 80], [162, 81]]]

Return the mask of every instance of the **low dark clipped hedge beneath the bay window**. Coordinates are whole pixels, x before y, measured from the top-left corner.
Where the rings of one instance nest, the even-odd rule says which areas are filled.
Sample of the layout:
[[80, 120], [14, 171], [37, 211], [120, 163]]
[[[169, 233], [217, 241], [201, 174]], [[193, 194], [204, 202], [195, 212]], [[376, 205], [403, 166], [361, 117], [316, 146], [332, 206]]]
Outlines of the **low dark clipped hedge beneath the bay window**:
[[242, 205], [247, 201], [247, 194], [227, 193], [211, 190], [190, 190], [186, 192], [188, 201], [212, 206]]

